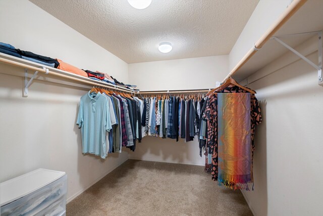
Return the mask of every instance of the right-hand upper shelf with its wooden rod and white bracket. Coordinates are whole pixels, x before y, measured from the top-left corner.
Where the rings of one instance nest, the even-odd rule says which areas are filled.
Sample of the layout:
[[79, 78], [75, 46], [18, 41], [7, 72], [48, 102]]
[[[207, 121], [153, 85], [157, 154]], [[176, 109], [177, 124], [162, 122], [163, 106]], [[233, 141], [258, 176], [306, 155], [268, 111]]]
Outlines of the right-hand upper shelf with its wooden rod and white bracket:
[[[250, 76], [251, 74], [263, 68], [264, 66], [278, 59], [286, 52], [290, 50], [293, 51], [290, 48], [296, 47], [314, 36], [317, 37], [317, 41], [318, 41], [317, 50], [318, 52], [321, 53], [321, 49], [322, 49], [321, 30], [323, 29], [322, 11], [323, 11], [323, 1], [294, 0], [291, 3], [291, 5], [286, 9], [282, 17], [279, 19], [279, 22], [275, 23], [270, 29], [270, 30], [274, 30], [274, 34], [268, 35], [268, 32], [266, 32], [258, 41], [263, 39], [266, 34], [268, 35], [269, 40], [264, 41], [265, 43], [262, 43], [260, 45], [255, 43], [255, 48], [251, 48], [249, 50], [246, 56], [239, 62], [239, 64], [241, 65], [238, 64], [235, 67], [235, 69], [233, 69], [231, 73], [225, 78], [225, 80], [228, 79], [230, 76], [232, 76], [237, 81], [242, 81], [246, 79], [248, 76]], [[295, 14], [293, 15], [293, 13]], [[276, 38], [278, 38], [278, 40]], [[288, 46], [286, 46], [287, 44], [289, 48]], [[252, 44], [250, 45], [253, 46]], [[297, 51], [296, 52], [295, 51], [293, 52], [296, 55], [298, 55], [298, 53], [296, 53]], [[317, 69], [318, 84], [323, 85], [322, 74], [321, 74], [322, 56], [320, 55], [320, 53], [318, 53], [318, 65], [315, 64], [316, 67], [311, 63], [309, 62], [308, 63]], [[306, 53], [305, 55], [308, 55], [308, 54], [310, 53]], [[299, 57], [303, 58], [304, 56], [301, 55]]]

